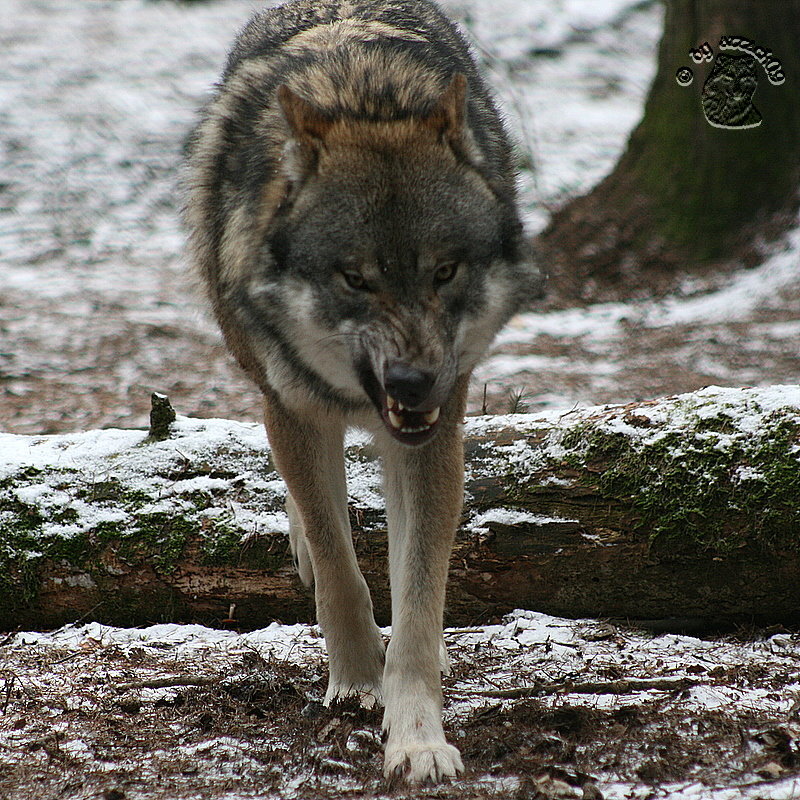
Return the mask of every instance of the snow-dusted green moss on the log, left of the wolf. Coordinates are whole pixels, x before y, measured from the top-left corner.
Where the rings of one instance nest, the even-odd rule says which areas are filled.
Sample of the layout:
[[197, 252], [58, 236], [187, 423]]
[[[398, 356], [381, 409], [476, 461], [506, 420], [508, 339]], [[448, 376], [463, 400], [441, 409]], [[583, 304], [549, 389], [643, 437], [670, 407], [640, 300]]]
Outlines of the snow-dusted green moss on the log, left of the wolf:
[[[222, 456], [243, 459], [243, 454], [233, 451]], [[118, 465], [120, 475], [126, 475], [124, 455], [115, 454], [110, 460]], [[238, 477], [235, 470], [221, 468], [219, 461], [194, 462], [168, 473], [162, 477], [171, 481], [196, 477], [235, 481]], [[32, 603], [47, 564], [68, 565], [102, 585], [109, 575], [102, 554], [109, 551], [131, 568], [146, 564], [165, 575], [174, 572], [189, 546], [195, 552], [199, 549], [200, 563], [205, 566], [238, 565], [245, 558], [248, 566], [275, 569], [283, 562], [285, 548], [279, 547], [251, 547], [243, 556], [243, 540], [252, 530], [238, 525], [235, 515], [225, 509], [225, 501], [215, 496], [228, 496], [229, 489], [177, 492], [163, 507], [158, 492], [148, 493], [139, 483], [130, 485], [126, 477], [115, 475], [87, 483], [75, 470], [33, 467], [21, 468], [0, 481], [0, 605], [14, 609]], [[63, 493], [62, 505], [21, 499], [37, 486]], [[276, 506], [249, 488], [240, 486], [236, 494], [249, 508], [273, 510]], [[133, 602], [117, 599], [120, 608]]]

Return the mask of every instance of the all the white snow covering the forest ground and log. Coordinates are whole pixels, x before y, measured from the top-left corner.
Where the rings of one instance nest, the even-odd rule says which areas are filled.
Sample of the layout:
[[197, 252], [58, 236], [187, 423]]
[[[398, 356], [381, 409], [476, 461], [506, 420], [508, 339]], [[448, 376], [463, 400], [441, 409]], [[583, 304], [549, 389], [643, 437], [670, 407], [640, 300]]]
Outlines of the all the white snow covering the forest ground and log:
[[[134, 328], [173, 326], [182, 329], [186, 339], [208, 344], [207, 349], [218, 343], [216, 330], [199, 315], [196, 302], [183, 288], [176, 164], [196, 109], [218, 75], [234, 32], [254, 5], [251, 0], [192, 4], [3, 0], [4, 19], [14, 21], [13, 31], [2, 34], [4, 68], [0, 71], [2, 144], [7, 157], [0, 204], [0, 290], [4, 295], [0, 368], [8, 376], [8, 397], [27, 391], [24, 376], [49, 372], [73, 374], [72, 388], [80, 398], [84, 381], [72, 348], [83, 340], [102, 344], [104, 339], [125, 336]], [[522, 155], [527, 159], [521, 174], [522, 204], [529, 230], [536, 231], [546, 223], [550, 208], [590, 188], [619, 156], [640, 117], [654, 74], [662, 9], [657, 3], [636, 0], [447, 0], [444, 5], [473, 37], [476, 52], [522, 143]], [[42, 62], [46, 67], [41, 67]], [[20, 152], [21, 157], [10, 157]], [[623, 365], [615, 360], [611, 348], [624, 340], [630, 329], [700, 326], [698, 339], [703, 346], [707, 337], [702, 326], [742, 321], [750, 323], [759, 337], [771, 338], [779, 345], [786, 340], [793, 346], [800, 337], [800, 320], [753, 320], [758, 320], [759, 311], [768, 309], [781, 292], [797, 286], [799, 253], [800, 227], [779, 243], [761, 266], [734, 274], [712, 292], [692, 295], [687, 287], [688, 296], [661, 302], [520, 315], [501, 333], [493, 355], [477, 371], [478, 382], [513, 382], [526, 372], [572, 371], [591, 376], [591, 392], [543, 391], [537, 402], [550, 408], [547, 414], [470, 419], [468, 434], [488, 434], [522, 419], [555, 428], [565, 417], [602, 416], [602, 406], [586, 408], [585, 401], [598, 393], [598, 387], [624, 382]], [[159, 265], [158, 272], [154, 272], [154, 264]], [[759, 326], [757, 331], [754, 325]], [[569, 344], [572, 351], [569, 355], [537, 354], [535, 343], [541, 337]], [[44, 354], [29, 347], [31, 342], [45, 343]], [[742, 349], [748, 346], [738, 337], [735, 344]], [[575, 354], [578, 347], [584, 348], [581, 356]], [[147, 383], [142, 370], [151, 362], [156, 374], [163, 372], [157, 349], [158, 345], [151, 350], [140, 348], [136, 363], [114, 363], [110, 371], [119, 385], [141, 388]], [[95, 354], [90, 353], [89, 359], [96, 360]], [[711, 375], [728, 369], [705, 353], [694, 363]], [[728, 374], [732, 381], [742, 382], [743, 376], [749, 380], [749, 373], [730, 369]], [[758, 375], [756, 379], [770, 382]], [[797, 386], [749, 391], [747, 402], [742, 403], [741, 394], [711, 387], [699, 395], [700, 402], [689, 407], [677, 398], [639, 409], [637, 414], [649, 416], [659, 426], [680, 425], [687, 414], [705, 413], [703, 398], [715, 403], [730, 401], [735, 435], [746, 436], [758, 432], [771, 411], [800, 409]], [[575, 395], [584, 402], [575, 405]], [[75, 405], [71, 421], [74, 428], [80, 428], [80, 402]], [[130, 410], [123, 408], [121, 414], [131, 424]], [[635, 428], [619, 417], [611, 416], [605, 424], [609, 431], [635, 433], [643, 442], [653, 441], [654, 434], [646, 428]], [[146, 442], [141, 430], [37, 437], [0, 433], [0, 479], [20, 466], [45, 472], [80, 469], [87, 483], [115, 478], [126, 489], [158, 495], [161, 505], [151, 510], [174, 510], [182, 497], [193, 492], [231, 494], [234, 478], [164, 477], [179, 472], [182, 463], [202, 463], [224, 446], [235, 464], [233, 471], [263, 495], [264, 506], [254, 513], [226, 500], [225, 509], [213, 507], [203, 513], [233, 513], [240, 527], [253, 533], [288, 532], [288, 519], [281, 510], [285, 487], [265, 469], [267, 449], [260, 425], [180, 417], [175, 432], [175, 440], [163, 443]], [[352, 432], [347, 447], [365, 441], [364, 434]], [[558, 443], [554, 440], [548, 446], [555, 453]], [[525, 442], [499, 448], [498, 455], [518, 469], [532, 469], [543, 458]], [[216, 466], [222, 471], [225, 464]], [[759, 473], [742, 467], [737, 477], [753, 481]], [[351, 464], [348, 479], [356, 505], [383, 507], [377, 464]], [[61, 536], [75, 535], [102, 521], [125, 521], [121, 512], [70, 498], [46, 480], [20, 487], [17, 497], [42, 509], [73, 509], [77, 521], [50, 530]], [[496, 509], [476, 515], [468, 524], [481, 531], [491, 522], [535, 526], [565, 521]], [[37, 556], [34, 551], [28, 555]], [[87, 579], [79, 574], [65, 580]], [[800, 644], [789, 634], [750, 644], [674, 635], [648, 638], [619, 631], [608, 639], [587, 637], [587, 631], [602, 624], [519, 611], [498, 625], [448, 631], [448, 645], [462, 663], [469, 664], [476, 649], [513, 654], [516, 660], [512, 664], [498, 659], [491, 669], [471, 670], [467, 678], [453, 683], [448, 691], [455, 699], [447, 713], [456, 719], [469, 714], [483, 702], [470, 694], [476, 691], [514, 687], [523, 680], [533, 685], [542, 676], [587, 680], [622, 662], [634, 677], [656, 673], [675, 677], [697, 675], [696, 670], [710, 664], [737, 669], [767, 662], [796, 673], [800, 659]], [[384, 633], [388, 636], [390, 630]], [[139, 649], [157, 656], [165, 669], [171, 662], [204, 659], [222, 665], [233, 655], [255, 651], [265, 658], [324, 672], [324, 643], [318, 628], [310, 625], [276, 623], [262, 631], [237, 634], [196, 625], [119, 629], [89, 623], [51, 633], [17, 633], [3, 652], [11, 659], [31, 648], [66, 654]], [[0, 679], [8, 687], [5, 665], [0, 662]], [[32, 684], [40, 679], [33, 671], [28, 674], [16, 667], [13, 674]], [[142, 696], [145, 702], [155, 704], [171, 694], [173, 689], [146, 689]], [[567, 693], [558, 698], [604, 706], [627, 701], [617, 695]], [[800, 685], [796, 683], [772, 692], [761, 687], [698, 685], [675, 702], [685, 703], [687, 709], [746, 707], [777, 715], [788, 714], [799, 699]], [[82, 703], [93, 707], [90, 700], [69, 701], [76, 707]], [[52, 721], [51, 729], [67, 731], [67, 723]], [[8, 752], [18, 757], [16, 735], [13, 731], [0, 734], [0, 767]], [[202, 754], [211, 758], [216, 751], [215, 764], [222, 770], [226, 753], [231, 762], [246, 764], [248, 746], [235, 737], [217, 737], [180, 749], [191, 757]], [[280, 748], [280, 743], [276, 747]], [[80, 737], [66, 739], [60, 749], [77, 762], [92, 755]], [[162, 754], [169, 759], [174, 755]], [[303, 778], [292, 780], [296, 785], [287, 782], [284, 796], [300, 796]], [[488, 776], [478, 780], [485, 780], [500, 793], [518, 789], [515, 779], [506, 779], [506, 784]], [[341, 785], [347, 786], [347, 781], [342, 779]], [[717, 788], [698, 783], [652, 787], [610, 780], [600, 788], [607, 800], [787, 800], [800, 796], [800, 780], [794, 777], [774, 782], [754, 778], [752, 785]], [[243, 795], [224, 796], [238, 800]]]

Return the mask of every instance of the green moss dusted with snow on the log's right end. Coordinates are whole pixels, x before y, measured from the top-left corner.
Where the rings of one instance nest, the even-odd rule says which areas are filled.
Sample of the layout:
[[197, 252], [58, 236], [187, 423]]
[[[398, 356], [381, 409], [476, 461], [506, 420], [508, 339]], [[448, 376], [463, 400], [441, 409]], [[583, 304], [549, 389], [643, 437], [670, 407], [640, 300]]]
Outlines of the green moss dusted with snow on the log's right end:
[[563, 463], [605, 499], [629, 504], [654, 543], [721, 554], [800, 549], [800, 421], [776, 411], [755, 431], [724, 412], [678, 430], [632, 436], [603, 423], [567, 431]]

